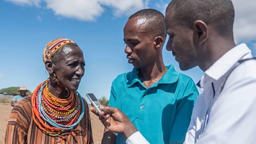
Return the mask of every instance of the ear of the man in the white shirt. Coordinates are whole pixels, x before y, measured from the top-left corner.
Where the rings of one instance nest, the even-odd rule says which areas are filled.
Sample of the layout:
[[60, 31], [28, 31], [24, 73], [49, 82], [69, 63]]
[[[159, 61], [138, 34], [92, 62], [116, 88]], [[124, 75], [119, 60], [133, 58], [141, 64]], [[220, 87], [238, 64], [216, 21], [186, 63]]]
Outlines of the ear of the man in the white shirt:
[[203, 44], [205, 40], [207, 40], [209, 29], [204, 21], [196, 20], [194, 22], [193, 31], [194, 40], [196, 40], [198, 44]]

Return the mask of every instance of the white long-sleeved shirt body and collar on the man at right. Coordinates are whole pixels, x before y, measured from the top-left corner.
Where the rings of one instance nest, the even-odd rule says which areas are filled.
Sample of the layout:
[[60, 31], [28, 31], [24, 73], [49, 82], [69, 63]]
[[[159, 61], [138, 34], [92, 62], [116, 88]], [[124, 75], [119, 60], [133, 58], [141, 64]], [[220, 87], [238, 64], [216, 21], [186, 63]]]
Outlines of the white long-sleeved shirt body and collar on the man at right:
[[234, 68], [246, 58], [251, 51], [240, 44], [205, 71], [184, 144], [256, 143], [256, 60]]

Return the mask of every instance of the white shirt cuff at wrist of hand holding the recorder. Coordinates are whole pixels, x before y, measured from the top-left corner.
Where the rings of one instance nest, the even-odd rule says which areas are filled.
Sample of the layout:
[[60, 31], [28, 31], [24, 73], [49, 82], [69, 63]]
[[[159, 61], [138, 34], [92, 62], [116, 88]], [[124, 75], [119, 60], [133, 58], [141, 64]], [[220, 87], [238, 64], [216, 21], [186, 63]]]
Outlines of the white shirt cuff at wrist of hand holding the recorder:
[[126, 144], [149, 144], [148, 141], [142, 136], [142, 134], [137, 131], [134, 132], [127, 140], [125, 141]]

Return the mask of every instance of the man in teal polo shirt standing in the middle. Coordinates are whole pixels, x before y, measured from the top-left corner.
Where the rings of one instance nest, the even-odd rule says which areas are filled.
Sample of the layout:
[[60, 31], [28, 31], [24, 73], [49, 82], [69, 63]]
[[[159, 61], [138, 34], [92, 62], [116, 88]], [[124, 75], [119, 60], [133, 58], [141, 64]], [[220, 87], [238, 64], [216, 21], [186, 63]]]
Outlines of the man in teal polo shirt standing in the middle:
[[[198, 95], [195, 83], [162, 56], [166, 39], [164, 15], [140, 10], [124, 27], [125, 53], [134, 66], [113, 81], [109, 106], [119, 108], [152, 144], [182, 143]], [[105, 130], [106, 131], [106, 130]], [[104, 133], [102, 143], [125, 143], [122, 134]]]

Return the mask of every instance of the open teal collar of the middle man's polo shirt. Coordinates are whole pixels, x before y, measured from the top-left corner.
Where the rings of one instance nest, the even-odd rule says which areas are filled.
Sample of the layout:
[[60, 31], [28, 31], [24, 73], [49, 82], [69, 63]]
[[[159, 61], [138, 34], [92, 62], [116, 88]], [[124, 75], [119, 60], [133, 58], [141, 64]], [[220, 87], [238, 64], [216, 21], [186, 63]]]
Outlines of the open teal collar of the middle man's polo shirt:
[[[175, 83], [179, 79], [179, 72], [176, 72], [173, 65], [166, 66], [168, 69], [164, 76], [158, 81], [158, 84], [170, 84]], [[138, 76], [138, 70], [136, 68], [132, 69], [131, 79], [127, 79], [127, 86], [131, 87], [133, 84], [140, 82], [140, 77]]]

